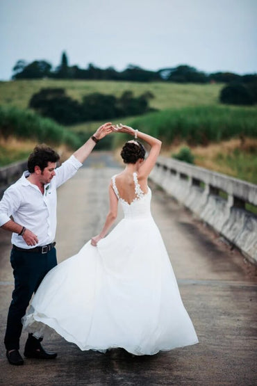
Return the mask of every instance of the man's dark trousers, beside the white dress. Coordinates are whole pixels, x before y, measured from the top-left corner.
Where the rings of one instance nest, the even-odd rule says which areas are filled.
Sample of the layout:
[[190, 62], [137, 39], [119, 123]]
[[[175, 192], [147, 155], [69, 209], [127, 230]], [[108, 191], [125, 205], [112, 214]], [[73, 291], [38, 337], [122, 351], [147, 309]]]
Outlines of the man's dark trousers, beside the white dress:
[[47, 253], [23, 252], [12, 249], [10, 263], [13, 267], [15, 289], [10, 303], [6, 336], [6, 350], [19, 350], [19, 338], [22, 334], [22, 316], [44, 276], [57, 265], [56, 248]]

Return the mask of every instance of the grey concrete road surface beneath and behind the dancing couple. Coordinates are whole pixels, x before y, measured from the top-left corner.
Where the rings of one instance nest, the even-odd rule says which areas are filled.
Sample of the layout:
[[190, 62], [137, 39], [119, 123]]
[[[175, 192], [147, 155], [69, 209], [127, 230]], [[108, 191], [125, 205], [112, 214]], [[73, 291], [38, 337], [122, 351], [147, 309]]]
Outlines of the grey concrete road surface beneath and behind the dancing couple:
[[[108, 210], [107, 186], [119, 166], [110, 154], [93, 153], [58, 191], [58, 261], [74, 255], [101, 229]], [[0, 346], [1, 385], [256, 385], [256, 265], [157, 184], [152, 213], [179, 283], [199, 344], [132, 357], [80, 351], [54, 334], [44, 342], [56, 360], [8, 364]], [[119, 215], [120, 217], [121, 215]], [[0, 230], [0, 339], [13, 290], [10, 234]], [[22, 335], [23, 353], [26, 335]]]

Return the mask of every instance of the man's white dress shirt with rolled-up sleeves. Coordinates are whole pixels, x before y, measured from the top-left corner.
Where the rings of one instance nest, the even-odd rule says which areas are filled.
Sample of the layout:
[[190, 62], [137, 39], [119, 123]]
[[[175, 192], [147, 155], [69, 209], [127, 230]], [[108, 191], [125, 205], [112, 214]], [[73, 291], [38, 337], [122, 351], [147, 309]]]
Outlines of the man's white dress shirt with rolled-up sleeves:
[[[44, 186], [44, 195], [35, 184], [26, 177], [26, 171], [20, 179], [6, 189], [0, 201], [0, 227], [13, 216], [15, 223], [31, 230], [38, 236], [37, 246], [52, 243], [56, 236], [56, 189], [72, 177], [82, 163], [72, 155], [59, 168], [49, 184]], [[13, 233], [12, 243], [19, 248], [27, 246], [22, 236]]]

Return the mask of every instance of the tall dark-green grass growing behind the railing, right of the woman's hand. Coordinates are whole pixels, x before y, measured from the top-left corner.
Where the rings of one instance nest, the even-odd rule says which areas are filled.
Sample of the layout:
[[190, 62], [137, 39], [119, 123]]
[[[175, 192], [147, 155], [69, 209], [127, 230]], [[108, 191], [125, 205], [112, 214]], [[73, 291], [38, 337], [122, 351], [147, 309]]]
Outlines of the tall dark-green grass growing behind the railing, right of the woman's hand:
[[[133, 118], [126, 123], [163, 140], [185, 140], [189, 145], [208, 145], [235, 136], [257, 137], [257, 110], [251, 107], [195, 106], [158, 111]], [[126, 136], [115, 136], [115, 146]]]

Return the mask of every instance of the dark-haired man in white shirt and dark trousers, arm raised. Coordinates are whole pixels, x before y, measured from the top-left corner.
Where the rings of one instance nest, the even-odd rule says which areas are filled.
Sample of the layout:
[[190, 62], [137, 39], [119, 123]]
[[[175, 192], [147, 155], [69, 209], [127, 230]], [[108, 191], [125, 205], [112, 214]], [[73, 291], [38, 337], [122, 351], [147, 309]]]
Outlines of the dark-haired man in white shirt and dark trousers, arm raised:
[[[0, 201], [0, 227], [13, 232], [10, 262], [15, 289], [8, 312], [6, 356], [10, 364], [24, 364], [19, 354], [22, 316], [44, 276], [56, 266], [56, 188], [71, 178], [101, 138], [112, 131], [110, 122], [56, 169], [58, 154], [46, 145], [38, 145], [28, 158], [28, 170], [11, 185]], [[10, 218], [13, 216], [13, 219]], [[40, 341], [28, 335], [26, 357], [53, 359], [57, 353], [45, 351]]]

